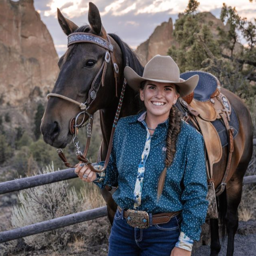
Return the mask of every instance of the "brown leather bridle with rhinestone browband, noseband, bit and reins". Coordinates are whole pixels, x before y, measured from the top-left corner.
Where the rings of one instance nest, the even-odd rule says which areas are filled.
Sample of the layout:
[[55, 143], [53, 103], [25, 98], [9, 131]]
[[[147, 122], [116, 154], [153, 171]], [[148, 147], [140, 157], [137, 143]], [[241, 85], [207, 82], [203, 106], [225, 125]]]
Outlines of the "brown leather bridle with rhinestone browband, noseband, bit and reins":
[[[75, 32], [75, 33], [69, 34], [68, 47], [75, 43], [93, 43], [93, 44], [100, 46], [101, 48], [106, 49], [105, 58], [103, 60], [103, 63], [101, 65], [98, 73], [96, 74], [95, 78], [92, 81], [91, 88], [88, 92], [88, 98], [84, 103], [81, 103], [81, 102], [78, 102], [76, 100], [73, 100], [69, 97], [63, 96], [58, 93], [49, 93], [47, 95], [47, 99], [49, 100], [50, 97], [58, 97], [63, 100], [67, 100], [71, 103], [74, 103], [80, 107], [81, 112], [79, 112], [75, 118], [71, 119], [70, 128], [69, 128], [71, 134], [74, 135], [72, 142], [76, 148], [77, 159], [79, 161], [82, 161], [84, 164], [86, 164], [93, 172], [103, 172], [106, 169], [106, 167], [108, 165], [109, 158], [110, 158], [112, 143], [113, 143], [113, 135], [114, 135], [114, 132], [116, 129], [117, 121], [119, 119], [119, 114], [120, 114], [121, 106], [123, 103], [124, 92], [125, 92], [127, 83], [126, 83], [126, 80], [124, 79], [123, 87], [121, 90], [121, 96], [119, 99], [119, 104], [118, 104], [118, 107], [116, 110], [116, 115], [115, 115], [115, 118], [113, 121], [113, 127], [112, 127], [112, 131], [111, 131], [111, 137], [110, 137], [110, 142], [108, 145], [108, 152], [107, 152], [105, 164], [103, 166], [103, 169], [101, 169], [99, 171], [98, 169], [95, 169], [92, 166], [92, 163], [86, 158], [88, 149], [89, 149], [89, 145], [90, 145], [92, 124], [93, 124], [93, 114], [91, 115], [90, 113], [87, 112], [87, 110], [90, 108], [92, 102], [95, 100], [95, 98], [97, 96], [97, 92], [100, 88], [100, 84], [102, 84], [102, 86], [105, 85], [106, 69], [107, 69], [107, 65], [108, 65], [108, 63], [110, 63], [110, 61], [112, 63], [113, 70], [114, 70], [114, 77], [115, 77], [115, 82], [116, 82], [116, 97], [117, 97], [117, 83], [118, 83], [117, 75], [119, 74], [119, 68], [118, 68], [118, 65], [116, 64], [116, 61], [115, 61], [115, 58], [113, 55], [114, 47], [111, 44], [111, 40], [108, 35], [107, 35], [107, 40], [105, 40], [103, 37], [99, 37], [94, 34], [85, 33], [85, 32]], [[128, 59], [126, 60], [126, 65], [128, 66]], [[78, 123], [78, 119], [81, 115], [83, 115], [82, 121]], [[84, 124], [84, 119], [85, 119], [86, 115], [89, 116], [89, 119], [87, 120], [87, 123]], [[87, 126], [87, 142], [86, 142], [86, 146], [84, 149], [84, 153], [82, 153], [79, 148], [79, 140], [78, 140], [77, 134], [78, 134], [78, 129], [85, 127], [85, 126]], [[65, 164], [66, 167], [69, 167], [69, 168], [74, 167], [74, 166], [71, 166], [69, 161], [67, 161], [66, 156], [64, 155], [62, 149], [58, 149], [57, 152], [58, 152], [58, 156], [61, 158], [61, 160], [63, 161], [63, 163]]]

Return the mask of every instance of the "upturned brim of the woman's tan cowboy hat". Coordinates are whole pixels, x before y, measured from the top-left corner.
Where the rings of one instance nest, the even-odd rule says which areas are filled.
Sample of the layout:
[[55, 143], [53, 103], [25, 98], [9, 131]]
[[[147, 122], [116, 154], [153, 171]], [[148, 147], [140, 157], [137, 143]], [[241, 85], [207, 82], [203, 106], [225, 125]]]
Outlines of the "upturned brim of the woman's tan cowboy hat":
[[172, 83], [176, 84], [179, 87], [179, 97], [185, 97], [189, 95], [193, 90], [195, 90], [195, 87], [198, 84], [199, 76], [194, 75], [187, 80], [183, 80], [180, 78], [179, 82], [175, 81], [169, 81], [169, 80], [161, 80], [161, 79], [150, 79], [150, 78], [144, 78], [140, 77], [133, 69], [131, 69], [129, 66], [126, 66], [124, 68], [124, 77], [127, 81], [127, 84], [132, 87], [133, 90], [139, 91], [140, 90], [140, 84], [143, 81], [153, 81], [153, 82], [160, 82], [160, 83]]

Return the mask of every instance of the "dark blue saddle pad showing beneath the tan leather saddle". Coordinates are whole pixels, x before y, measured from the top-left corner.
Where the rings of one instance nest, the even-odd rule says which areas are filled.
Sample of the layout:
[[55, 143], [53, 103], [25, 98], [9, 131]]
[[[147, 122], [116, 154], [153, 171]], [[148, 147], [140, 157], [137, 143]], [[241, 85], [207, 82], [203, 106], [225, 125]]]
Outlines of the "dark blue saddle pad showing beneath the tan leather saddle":
[[[175, 106], [179, 109], [179, 111], [182, 112], [183, 115], [185, 115], [185, 112], [182, 108], [182, 106], [179, 103], [179, 100], [177, 100]], [[188, 122], [190, 125], [194, 126], [191, 121]], [[215, 127], [216, 131], [219, 134], [220, 141], [222, 143], [222, 148], [228, 145], [228, 137], [227, 137], [227, 130], [225, 128], [224, 122], [222, 119], [216, 119], [215, 121], [211, 122], [213, 126]], [[239, 123], [238, 123], [238, 117], [235, 113], [235, 109], [231, 106], [231, 115], [230, 115], [230, 121], [229, 121], [230, 127], [234, 128], [234, 134], [233, 138], [235, 138], [238, 135], [239, 131]]]

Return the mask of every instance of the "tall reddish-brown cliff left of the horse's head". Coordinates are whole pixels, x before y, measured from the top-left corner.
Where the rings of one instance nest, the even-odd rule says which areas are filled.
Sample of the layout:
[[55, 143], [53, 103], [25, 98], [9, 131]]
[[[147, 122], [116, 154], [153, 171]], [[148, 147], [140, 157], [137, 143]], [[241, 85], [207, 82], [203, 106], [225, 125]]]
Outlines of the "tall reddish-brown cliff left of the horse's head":
[[14, 126], [33, 121], [53, 88], [58, 55], [33, 0], [0, 0], [0, 115]]

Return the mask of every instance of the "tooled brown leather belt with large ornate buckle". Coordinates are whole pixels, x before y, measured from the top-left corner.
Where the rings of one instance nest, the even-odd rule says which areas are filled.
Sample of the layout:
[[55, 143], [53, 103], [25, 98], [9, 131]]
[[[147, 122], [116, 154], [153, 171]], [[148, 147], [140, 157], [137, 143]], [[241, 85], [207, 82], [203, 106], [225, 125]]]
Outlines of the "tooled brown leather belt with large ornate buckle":
[[[117, 206], [118, 211], [121, 213], [122, 208]], [[131, 214], [131, 211], [133, 214]], [[175, 212], [166, 212], [166, 213], [159, 213], [159, 214], [152, 214], [152, 224], [164, 224], [169, 222], [169, 220], [175, 216], [177, 216], [181, 211], [175, 211]], [[142, 222], [148, 222], [144, 223], [143, 225], [139, 225], [138, 223], [131, 225], [132, 223], [132, 217], [135, 216], [135, 218], [138, 216], [137, 219], [142, 219]], [[145, 216], [145, 220], [141, 218], [140, 216]], [[136, 211], [136, 210], [124, 210], [124, 218], [127, 220], [127, 223], [132, 226], [132, 227], [138, 227], [140, 228], [146, 228], [149, 227], [149, 218], [148, 218], [148, 213], [146, 211]]]

